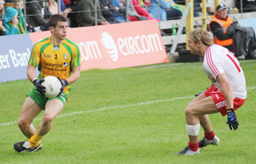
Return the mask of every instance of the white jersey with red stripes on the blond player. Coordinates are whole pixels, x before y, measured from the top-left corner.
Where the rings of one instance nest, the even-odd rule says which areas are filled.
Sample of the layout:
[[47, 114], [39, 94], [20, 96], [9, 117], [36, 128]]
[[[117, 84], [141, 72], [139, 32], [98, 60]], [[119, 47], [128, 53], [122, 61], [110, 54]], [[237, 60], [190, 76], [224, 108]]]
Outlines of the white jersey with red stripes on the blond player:
[[213, 84], [221, 91], [221, 85], [217, 82], [217, 76], [225, 73], [232, 84], [233, 96], [246, 98], [246, 84], [243, 70], [235, 55], [228, 49], [213, 44], [208, 46], [204, 53], [204, 72]]

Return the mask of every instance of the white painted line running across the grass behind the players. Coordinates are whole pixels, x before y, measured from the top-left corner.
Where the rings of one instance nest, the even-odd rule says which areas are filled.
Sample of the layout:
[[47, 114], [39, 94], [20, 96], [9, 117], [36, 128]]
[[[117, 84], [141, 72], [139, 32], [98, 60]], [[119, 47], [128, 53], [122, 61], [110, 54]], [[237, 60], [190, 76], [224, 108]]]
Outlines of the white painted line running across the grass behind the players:
[[[249, 87], [247, 90], [251, 89], [256, 89], [256, 87]], [[187, 98], [192, 98], [194, 96], [185, 96], [185, 97], [174, 97], [174, 98], [169, 98], [169, 99], [164, 99], [164, 100], [155, 100], [155, 101], [147, 101], [147, 102], [138, 102], [138, 103], [131, 103], [127, 105], [117, 105], [117, 106], [107, 106], [107, 107], [101, 107], [100, 109], [95, 109], [95, 110], [88, 110], [88, 111], [75, 111], [73, 113], [66, 113], [66, 114], [60, 114], [57, 117], [65, 117], [69, 115], [76, 115], [76, 114], [82, 114], [82, 113], [92, 113], [96, 111], [102, 111], [102, 110], [109, 110], [109, 109], [116, 109], [116, 108], [122, 108], [122, 107], [130, 107], [130, 106], [141, 106], [141, 105], [147, 105], [151, 103], [158, 103], [158, 102], [168, 102], [168, 101], [174, 101], [174, 100], [182, 100], [182, 99], [187, 99]], [[42, 118], [35, 118], [34, 120], [39, 120]], [[0, 126], [9, 126], [11, 124], [17, 123], [17, 121], [14, 122], [8, 122], [8, 123], [0, 123]]]

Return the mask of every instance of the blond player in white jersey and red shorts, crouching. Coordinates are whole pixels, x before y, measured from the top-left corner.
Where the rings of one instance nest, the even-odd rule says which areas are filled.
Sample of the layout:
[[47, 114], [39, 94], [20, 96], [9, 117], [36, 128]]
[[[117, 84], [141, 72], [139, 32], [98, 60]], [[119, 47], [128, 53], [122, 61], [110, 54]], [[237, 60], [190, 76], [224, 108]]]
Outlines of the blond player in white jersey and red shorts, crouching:
[[[246, 85], [243, 70], [237, 58], [226, 48], [215, 45], [208, 32], [196, 28], [189, 32], [188, 46], [192, 54], [204, 58], [204, 72], [212, 85], [192, 100], [185, 109], [188, 146], [177, 155], [199, 154], [199, 147], [217, 145], [220, 139], [214, 134], [208, 114], [228, 115], [230, 130], [237, 130], [235, 110], [243, 105]], [[204, 129], [204, 139], [198, 141], [200, 125]]]

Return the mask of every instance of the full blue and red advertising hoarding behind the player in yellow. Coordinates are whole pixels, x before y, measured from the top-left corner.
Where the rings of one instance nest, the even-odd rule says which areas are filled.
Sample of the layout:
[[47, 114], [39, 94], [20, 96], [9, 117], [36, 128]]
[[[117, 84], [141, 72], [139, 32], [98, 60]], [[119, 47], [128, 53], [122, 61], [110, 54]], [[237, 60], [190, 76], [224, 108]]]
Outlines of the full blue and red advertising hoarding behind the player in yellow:
[[[27, 79], [32, 46], [50, 35], [45, 31], [1, 36], [0, 83]], [[155, 20], [68, 28], [67, 38], [79, 46], [81, 70], [168, 62]]]

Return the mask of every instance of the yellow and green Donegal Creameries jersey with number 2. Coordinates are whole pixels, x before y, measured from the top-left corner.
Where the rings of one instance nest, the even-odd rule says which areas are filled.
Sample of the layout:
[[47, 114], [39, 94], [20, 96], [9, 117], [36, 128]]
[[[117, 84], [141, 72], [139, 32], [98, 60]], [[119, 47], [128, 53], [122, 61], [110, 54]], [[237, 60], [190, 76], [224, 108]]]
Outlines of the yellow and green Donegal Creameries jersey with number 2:
[[[28, 64], [38, 67], [39, 79], [56, 76], [65, 80], [72, 74], [72, 68], [81, 65], [80, 50], [67, 38], [61, 45], [55, 46], [51, 37], [48, 37], [34, 45]], [[70, 85], [65, 87], [64, 93], [68, 93], [69, 87]]]

